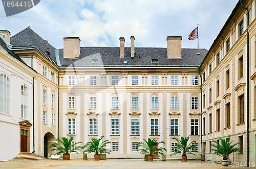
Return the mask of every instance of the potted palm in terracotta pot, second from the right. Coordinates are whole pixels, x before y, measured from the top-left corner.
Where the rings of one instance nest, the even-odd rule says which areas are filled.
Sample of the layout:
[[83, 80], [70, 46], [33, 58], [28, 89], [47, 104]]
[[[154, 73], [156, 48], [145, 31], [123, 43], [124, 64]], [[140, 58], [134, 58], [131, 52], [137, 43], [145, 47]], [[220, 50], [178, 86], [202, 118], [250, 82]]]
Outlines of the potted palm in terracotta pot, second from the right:
[[181, 154], [181, 161], [187, 161], [187, 154], [194, 154], [196, 151], [196, 146], [192, 145], [192, 143], [196, 142], [196, 141], [191, 141], [189, 144], [187, 143], [189, 140], [189, 137], [181, 137], [181, 139], [179, 138], [173, 138], [175, 139], [178, 143], [176, 143], [175, 145], [175, 149], [174, 149], [174, 153], [170, 154], [172, 155], [176, 155], [176, 154]]

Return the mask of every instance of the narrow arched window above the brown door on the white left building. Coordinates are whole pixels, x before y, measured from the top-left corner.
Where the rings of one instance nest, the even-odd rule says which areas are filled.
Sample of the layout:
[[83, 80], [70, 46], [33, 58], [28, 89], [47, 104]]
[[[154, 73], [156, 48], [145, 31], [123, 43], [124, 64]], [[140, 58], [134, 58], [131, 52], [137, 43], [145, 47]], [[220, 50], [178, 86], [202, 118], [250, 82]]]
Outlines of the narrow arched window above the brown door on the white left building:
[[28, 116], [28, 88], [25, 85], [20, 86], [20, 95], [21, 95], [21, 117], [27, 118]]

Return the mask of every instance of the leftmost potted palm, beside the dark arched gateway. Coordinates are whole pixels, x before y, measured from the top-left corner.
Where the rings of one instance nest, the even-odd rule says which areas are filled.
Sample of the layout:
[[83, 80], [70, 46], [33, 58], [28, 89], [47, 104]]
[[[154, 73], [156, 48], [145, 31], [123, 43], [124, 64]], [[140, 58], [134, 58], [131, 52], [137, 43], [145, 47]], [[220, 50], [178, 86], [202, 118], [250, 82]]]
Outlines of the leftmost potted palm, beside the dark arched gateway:
[[61, 154], [64, 153], [64, 159], [65, 160], [70, 160], [70, 154], [72, 152], [75, 152], [76, 154], [78, 154], [78, 151], [80, 150], [80, 146], [76, 146], [79, 143], [82, 142], [74, 142], [72, 143], [72, 140], [74, 139], [74, 137], [70, 136], [70, 139], [66, 138], [66, 137], [62, 137], [62, 138], [56, 138], [57, 142], [54, 142], [51, 144], [50, 148], [53, 148], [52, 151], [56, 151], [55, 154]]

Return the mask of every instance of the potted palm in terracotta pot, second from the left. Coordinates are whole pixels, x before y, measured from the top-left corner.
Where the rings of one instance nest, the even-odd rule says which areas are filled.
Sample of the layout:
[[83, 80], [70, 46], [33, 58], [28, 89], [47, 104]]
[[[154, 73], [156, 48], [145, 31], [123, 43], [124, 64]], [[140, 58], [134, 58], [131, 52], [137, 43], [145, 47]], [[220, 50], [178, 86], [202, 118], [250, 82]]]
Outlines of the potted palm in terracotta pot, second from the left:
[[[100, 159], [100, 154], [108, 153], [110, 154], [111, 150], [106, 149], [106, 144], [110, 143], [109, 140], [104, 140], [101, 142], [102, 138], [104, 136], [101, 136], [99, 139], [92, 138], [91, 141], [87, 142], [82, 149], [85, 149], [83, 153], [95, 153], [94, 160]], [[100, 143], [101, 142], [101, 143]]]

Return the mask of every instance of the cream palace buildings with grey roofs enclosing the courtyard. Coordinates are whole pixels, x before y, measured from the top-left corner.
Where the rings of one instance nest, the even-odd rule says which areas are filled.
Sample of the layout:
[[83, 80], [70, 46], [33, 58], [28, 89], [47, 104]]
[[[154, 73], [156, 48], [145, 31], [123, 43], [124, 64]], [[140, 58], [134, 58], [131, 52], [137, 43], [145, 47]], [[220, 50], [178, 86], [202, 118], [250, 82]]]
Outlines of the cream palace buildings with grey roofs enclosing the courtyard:
[[23, 151], [49, 157], [58, 137], [86, 143], [104, 135], [111, 141], [108, 158], [143, 158], [136, 145], [148, 137], [165, 141], [160, 146], [167, 158], [180, 158], [169, 156], [172, 138], [190, 136], [199, 153], [188, 158], [202, 154], [219, 161], [208, 154], [211, 141], [231, 135], [243, 153], [229, 158], [246, 162], [249, 134], [248, 155], [254, 161], [255, 0], [244, 6], [249, 27], [239, 2], [209, 51], [182, 49], [180, 36], [168, 36], [166, 48], [135, 47], [133, 36], [131, 47], [123, 37], [119, 47], [80, 47], [78, 37], [66, 37], [63, 49], [55, 49], [30, 27], [12, 37], [0, 31], [0, 126], [2, 135], [11, 131], [15, 145], [1, 148], [8, 156], [0, 160]]

